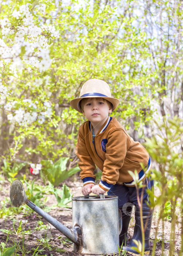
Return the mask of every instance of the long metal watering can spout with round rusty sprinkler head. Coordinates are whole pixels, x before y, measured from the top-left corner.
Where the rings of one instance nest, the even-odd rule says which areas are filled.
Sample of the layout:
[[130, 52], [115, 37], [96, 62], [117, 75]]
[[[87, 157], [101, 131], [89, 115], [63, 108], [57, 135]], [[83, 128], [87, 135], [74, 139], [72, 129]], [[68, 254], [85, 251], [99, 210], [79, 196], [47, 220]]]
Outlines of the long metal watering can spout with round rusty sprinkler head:
[[41, 217], [46, 219], [52, 226], [59, 230], [62, 234], [68, 237], [74, 244], [79, 245], [79, 234], [81, 229], [79, 226], [75, 226], [73, 229], [68, 229], [62, 223], [58, 222], [55, 218], [51, 217], [47, 212], [36, 206], [30, 200], [27, 199], [24, 191], [23, 184], [20, 180], [14, 180], [10, 188], [10, 199], [15, 207], [19, 207], [21, 204], [26, 203], [28, 207], [37, 212]]

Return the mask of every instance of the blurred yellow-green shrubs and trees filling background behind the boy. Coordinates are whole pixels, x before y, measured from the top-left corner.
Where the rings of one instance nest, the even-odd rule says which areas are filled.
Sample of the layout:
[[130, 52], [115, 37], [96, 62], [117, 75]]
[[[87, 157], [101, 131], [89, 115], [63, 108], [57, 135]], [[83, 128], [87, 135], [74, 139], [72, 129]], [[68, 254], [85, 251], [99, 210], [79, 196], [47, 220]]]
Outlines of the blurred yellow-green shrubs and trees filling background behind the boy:
[[[116, 117], [135, 140], [144, 142], [157, 133], [164, 117], [183, 116], [182, 3], [177, 1], [1, 1], [0, 19], [9, 10], [32, 3], [37, 27], [54, 26], [59, 37], [46, 34], [52, 64], [40, 72], [24, 63], [9, 69], [13, 62], [1, 59], [2, 83], [11, 91], [0, 109], [0, 153], [8, 161], [40, 163], [40, 160], [75, 158], [77, 130], [82, 114], [69, 101], [79, 96], [83, 83], [91, 78], [105, 80], [112, 95], [120, 99]], [[21, 26], [21, 17], [12, 29]], [[16, 24], [16, 25], [15, 25]], [[15, 28], [16, 27], [16, 28]], [[0, 35], [11, 47], [15, 34]], [[18, 55], [18, 54], [17, 54]], [[30, 69], [31, 68], [31, 71]], [[25, 99], [31, 99], [32, 107]], [[7, 103], [17, 101], [10, 110]], [[44, 103], [51, 114], [44, 114]], [[25, 113], [38, 112], [34, 122], [11, 122], [21, 107]], [[42, 114], [43, 113], [43, 114]], [[159, 126], [152, 121], [158, 120]], [[76, 162], [73, 161], [75, 167]]]

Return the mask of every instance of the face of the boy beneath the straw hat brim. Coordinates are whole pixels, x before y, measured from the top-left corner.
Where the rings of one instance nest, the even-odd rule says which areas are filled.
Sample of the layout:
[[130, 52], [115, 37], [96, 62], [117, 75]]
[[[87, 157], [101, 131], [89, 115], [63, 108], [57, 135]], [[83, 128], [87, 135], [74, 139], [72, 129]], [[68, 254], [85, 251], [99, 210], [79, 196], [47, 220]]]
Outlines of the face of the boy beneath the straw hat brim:
[[92, 123], [92, 126], [103, 125], [112, 109], [103, 98], [87, 98], [83, 106], [83, 115]]

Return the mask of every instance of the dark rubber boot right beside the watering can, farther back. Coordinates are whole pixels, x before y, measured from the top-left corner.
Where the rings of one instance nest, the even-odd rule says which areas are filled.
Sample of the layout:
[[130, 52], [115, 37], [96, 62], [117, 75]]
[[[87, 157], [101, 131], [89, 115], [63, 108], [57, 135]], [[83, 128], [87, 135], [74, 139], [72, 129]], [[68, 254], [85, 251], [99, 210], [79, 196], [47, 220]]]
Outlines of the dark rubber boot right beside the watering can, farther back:
[[128, 231], [128, 226], [131, 219], [132, 208], [133, 208], [133, 204], [127, 207], [120, 208], [121, 214], [122, 214], [122, 230], [120, 233], [120, 247], [121, 245], [123, 246], [126, 245], [128, 241], [127, 231]]

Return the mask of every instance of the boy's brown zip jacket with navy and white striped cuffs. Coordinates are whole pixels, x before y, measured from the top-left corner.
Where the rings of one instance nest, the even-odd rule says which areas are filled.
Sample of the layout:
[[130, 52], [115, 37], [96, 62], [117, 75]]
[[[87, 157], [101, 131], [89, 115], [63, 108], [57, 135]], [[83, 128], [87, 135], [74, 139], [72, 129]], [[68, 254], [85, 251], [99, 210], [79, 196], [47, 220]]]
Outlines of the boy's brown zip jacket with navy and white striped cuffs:
[[[79, 158], [80, 177], [84, 185], [94, 183], [96, 166], [102, 171], [101, 180], [106, 191], [112, 184], [132, 181], [132, 172], [142, 169], [148, 164], [149, 154], [139, 143], [135, 142], [114, 117], [109, 117], [94, 137], [90, 121], [83, 123], [78, 130], [76, 154]], [[89, 182], [91, 181], [91, 182]], [[100, 182], [101, 184], [101, 182]], [[108, 184], [109, 189], [108, 189]], [[100, 186], [101, 187], [101, 186]]]

